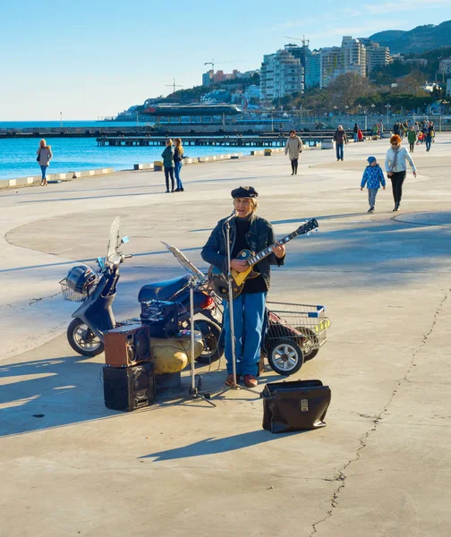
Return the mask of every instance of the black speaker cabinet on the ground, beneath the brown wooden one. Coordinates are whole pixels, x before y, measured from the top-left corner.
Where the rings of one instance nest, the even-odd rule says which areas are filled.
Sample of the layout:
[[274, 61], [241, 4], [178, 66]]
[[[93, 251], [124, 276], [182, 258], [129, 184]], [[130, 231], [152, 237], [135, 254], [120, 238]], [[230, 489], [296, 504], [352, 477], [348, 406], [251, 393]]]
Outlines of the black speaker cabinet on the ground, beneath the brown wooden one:
[[152, 362], [127, 368], [104, 366], [103, 379], [106, 408], [130, 412], [155, 401]]

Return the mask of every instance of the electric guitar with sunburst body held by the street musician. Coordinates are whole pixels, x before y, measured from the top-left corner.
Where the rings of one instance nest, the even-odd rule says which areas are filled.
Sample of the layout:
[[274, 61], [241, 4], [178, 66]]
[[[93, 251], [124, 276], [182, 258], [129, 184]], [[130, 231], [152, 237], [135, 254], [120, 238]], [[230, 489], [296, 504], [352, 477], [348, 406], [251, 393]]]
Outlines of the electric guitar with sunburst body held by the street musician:
[[[318, 226], [318, 222], [315, 220], [315, 218], [312, 218], [302, 226], [299, 226], [293, 233], [287, 234], [283, 239], [277, 241], [277, 243], [286, 244], [292, 239], [294, 239], [294, 237], [297, 237], [300, 234], [308, 234]], [[272, 253], [273, 246], [274, 244], [271, 244], [271, 246], [268, 246], [257, 254], [254, 254], [251, 250], [240, 251], [236, 259], [240, 261], [247, 261], [249, 268], [246, 268], [246, 270], [244, 270], [243, 272], [238, 272], [238, 270], [235, 270], [234, 268], [231, 269], [231, 274], [233, 278], [232, 298], [236, 298], [243, 291], [243, 286], [248, 277], [259, 276], [259, 273], [252, 270], [252, 268], [259, 261], [265, 259], [266, 257], [268, 257], [269, 254]], [[218, 296], [223, 299], [229, 298], [227, 277], [221, 270], [219, 270], [219, 268], [214, 267], [213, 265], [208, 268], [208, 283]]]

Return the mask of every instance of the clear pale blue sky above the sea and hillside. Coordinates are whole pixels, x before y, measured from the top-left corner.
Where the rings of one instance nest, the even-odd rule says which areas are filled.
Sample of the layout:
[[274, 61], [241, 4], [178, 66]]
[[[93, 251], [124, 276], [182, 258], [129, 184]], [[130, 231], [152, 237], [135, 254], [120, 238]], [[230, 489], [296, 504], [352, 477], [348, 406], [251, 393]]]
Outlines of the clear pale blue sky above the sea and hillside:
[[247, 71], [285, 36], [331, 47], [343, 35], [438, 24], [450, 8], [451, 0], [2, 0], [0, 121], [116, 115], [166, 95], [173, 78], [200, 85], [212, 58], [217, 69]]

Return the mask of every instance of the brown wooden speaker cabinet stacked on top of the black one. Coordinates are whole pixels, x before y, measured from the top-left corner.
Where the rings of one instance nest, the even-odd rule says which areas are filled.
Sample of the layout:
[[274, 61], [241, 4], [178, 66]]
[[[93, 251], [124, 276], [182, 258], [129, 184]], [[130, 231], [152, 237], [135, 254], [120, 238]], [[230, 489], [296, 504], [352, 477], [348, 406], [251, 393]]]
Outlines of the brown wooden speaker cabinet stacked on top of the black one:
[[111, 367], [130, 367], [150, 360], [149, 328], [124, 325], [106, 332], [105, 362]]

